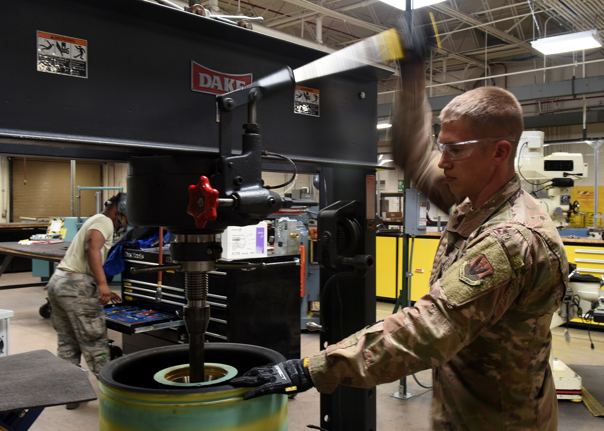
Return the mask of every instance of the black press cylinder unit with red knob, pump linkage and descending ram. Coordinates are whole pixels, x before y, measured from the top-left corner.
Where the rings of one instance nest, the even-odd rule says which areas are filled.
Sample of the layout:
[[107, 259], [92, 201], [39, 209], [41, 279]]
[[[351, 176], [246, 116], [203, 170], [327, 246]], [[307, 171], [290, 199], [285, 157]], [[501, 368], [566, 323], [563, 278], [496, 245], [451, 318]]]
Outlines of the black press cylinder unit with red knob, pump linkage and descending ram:
[[[173, 264], [133, 268], [130, 271], [184, 272], [187, 304], [182, 310], [182, 318], [189, 340], [190, 383], [204, 382], [205, 379], [204, 333], [210, 321], [210, 305], [206, 303], [208, 272], [228, 268], [265, 269], [270, 266], [300, 265], [298, 258], [278, 263], [216, 263], [222, 252], [216, 235], [227, 226], [255, 225], [279, 209], [294, 205], [318, 205], [312, 200], [281, 197], [262, 184], [262, 156], [288, 158], [262, 150], [257, 101], [260, 97], [288, 87], [294, 88], [294, 74], [290, 68], [284, 68], [246, 88], [217, 97], [222, 112], [220, 158], [151, 156], [129, 162], [129, 222], [135, 226], [165, 226], [175, 237], [170, 243]], [[233, 155], [231, 113], [243, 105], [248, 108], [248, 121], [243, 124], [242, 153]], [[199, 176], [199, 172], [204, 174]], [[155, 205], [158, 201], [170, 202], [170, 205], [158, 208]], [[156, 295], [161, 296], [161, 288], [158, 287]]]

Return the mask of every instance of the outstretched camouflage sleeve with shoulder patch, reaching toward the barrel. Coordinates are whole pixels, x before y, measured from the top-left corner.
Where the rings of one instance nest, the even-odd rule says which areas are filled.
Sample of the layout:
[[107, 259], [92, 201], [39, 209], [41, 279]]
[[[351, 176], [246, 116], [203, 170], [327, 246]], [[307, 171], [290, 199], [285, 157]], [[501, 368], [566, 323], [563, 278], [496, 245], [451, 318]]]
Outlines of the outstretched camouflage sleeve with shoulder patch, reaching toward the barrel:
[[528, 244], [515, 228], [481, 234], [414, 307], [311, 357], [317, 390], [371, 388], [451, 360], [501, 318], [532, 277]]

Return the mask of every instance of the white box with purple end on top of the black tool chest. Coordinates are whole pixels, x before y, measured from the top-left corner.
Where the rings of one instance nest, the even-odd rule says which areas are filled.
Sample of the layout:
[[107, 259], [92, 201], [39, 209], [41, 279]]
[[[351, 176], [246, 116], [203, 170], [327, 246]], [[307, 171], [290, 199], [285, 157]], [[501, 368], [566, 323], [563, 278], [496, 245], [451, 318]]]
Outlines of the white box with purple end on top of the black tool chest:
[[222, 259], [253, 259], [266, 257], [268, 223], [251, 226], [229, 226], [219, 236]]

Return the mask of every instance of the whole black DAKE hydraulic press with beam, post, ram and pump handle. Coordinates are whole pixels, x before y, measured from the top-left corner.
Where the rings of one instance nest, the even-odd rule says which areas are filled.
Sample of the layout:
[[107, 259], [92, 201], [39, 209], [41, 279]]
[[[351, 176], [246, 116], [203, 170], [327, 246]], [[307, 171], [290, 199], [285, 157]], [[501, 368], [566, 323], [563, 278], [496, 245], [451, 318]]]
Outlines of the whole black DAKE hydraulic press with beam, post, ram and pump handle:
[[[401, 54], [396, 31], [326, 56], [144, 0], [2, 2], [0, 28], [18, 41], [0, 45], [0, 153], [128, 162], [129, 222], [175, 237], [170, 266], [143, 270], [185, 273], [191, 380], [204, 378], [216, 235], [313, 203], [269, 190], [263, 170], [320, 174], [321, 348], [375, 321], [376, 83]], [[374, 389], [322, 394], [321, 426], [374, 430], [375, 402]]]

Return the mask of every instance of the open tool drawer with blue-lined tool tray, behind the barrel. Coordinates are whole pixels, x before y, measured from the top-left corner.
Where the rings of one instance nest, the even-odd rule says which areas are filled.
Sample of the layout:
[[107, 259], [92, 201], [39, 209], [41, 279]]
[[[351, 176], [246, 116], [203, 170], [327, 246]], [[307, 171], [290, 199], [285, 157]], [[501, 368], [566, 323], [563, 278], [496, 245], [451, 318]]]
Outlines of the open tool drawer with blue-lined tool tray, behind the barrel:
[[105, 305], [105, 324], [123, 334], [138, 334], [156, 329], [176, 328], [185, 322], [175, 314], [132, 304]]

